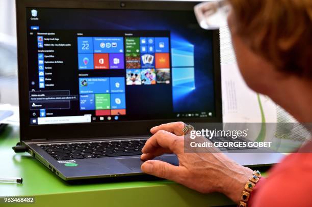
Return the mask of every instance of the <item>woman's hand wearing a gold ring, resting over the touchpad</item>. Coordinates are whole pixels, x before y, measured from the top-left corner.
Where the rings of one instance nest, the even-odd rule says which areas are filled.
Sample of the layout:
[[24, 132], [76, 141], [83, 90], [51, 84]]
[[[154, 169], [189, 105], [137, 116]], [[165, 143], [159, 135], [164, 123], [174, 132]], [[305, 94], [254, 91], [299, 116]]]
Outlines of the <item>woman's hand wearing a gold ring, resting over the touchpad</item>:
[[[184, 153], [184, 123], [152, 128], [153, 134], [142, 149], [143, 172], [169, 179], [201, 193], [220, 192], [239, 203], [252, 170], [237, 164], [223, 153]], [[217, 149], [215, 149], [217, 150]], [[218, 151], [215, 151], [218, 152]], [[151, 160], [163, 154], [176, 154], [179, 166]]]

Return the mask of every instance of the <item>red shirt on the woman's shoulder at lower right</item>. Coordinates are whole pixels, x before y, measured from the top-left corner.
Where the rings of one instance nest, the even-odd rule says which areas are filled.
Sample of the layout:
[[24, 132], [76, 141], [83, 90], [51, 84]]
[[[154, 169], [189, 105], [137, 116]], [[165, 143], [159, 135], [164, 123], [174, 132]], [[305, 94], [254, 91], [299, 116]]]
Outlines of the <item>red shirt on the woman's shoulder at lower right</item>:
[[312, 153], [294, 153], [260, 179], [248, 206], [312, 206]]

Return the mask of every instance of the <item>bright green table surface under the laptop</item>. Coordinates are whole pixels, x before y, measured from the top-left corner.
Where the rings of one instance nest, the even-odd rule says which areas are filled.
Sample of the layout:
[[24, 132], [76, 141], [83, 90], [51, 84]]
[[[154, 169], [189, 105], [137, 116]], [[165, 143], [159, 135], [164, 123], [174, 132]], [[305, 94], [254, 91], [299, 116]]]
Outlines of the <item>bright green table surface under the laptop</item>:
[[[127, 180], [71, 185], [27, 153], [12, 150], [19, 128], [0, 135], [0, 178], [16, 176], [22, 184], [0, 183], [0, 196], [31, 196], [33, 204], [0, 206], [222, 206], [233, 204], [220, 193], [201, 194], [167, 180]], [[2, 199], [3, 200], [3, 199]]]

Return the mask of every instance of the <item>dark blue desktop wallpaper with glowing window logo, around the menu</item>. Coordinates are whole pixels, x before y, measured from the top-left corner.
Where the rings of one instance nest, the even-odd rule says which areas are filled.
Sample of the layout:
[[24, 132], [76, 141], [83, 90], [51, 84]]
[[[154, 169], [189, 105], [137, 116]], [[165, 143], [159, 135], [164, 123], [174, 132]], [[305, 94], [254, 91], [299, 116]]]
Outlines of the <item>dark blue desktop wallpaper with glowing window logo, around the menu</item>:
[[170, 31], [173, 112], [215, 115], [212, 33], [198, 26], [192, 11], [59, 9], [57, 16], [61, 21], [47, 22], [49, 28]]

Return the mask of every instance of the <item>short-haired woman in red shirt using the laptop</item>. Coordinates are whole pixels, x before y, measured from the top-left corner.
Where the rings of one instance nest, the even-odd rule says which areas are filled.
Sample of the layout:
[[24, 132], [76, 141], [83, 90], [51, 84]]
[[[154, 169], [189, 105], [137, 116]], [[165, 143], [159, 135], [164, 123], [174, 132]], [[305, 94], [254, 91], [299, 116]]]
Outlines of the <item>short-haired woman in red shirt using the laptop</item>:
[[[312, 1], [227, 4], [233, 46], [248, 86], [271, 97], [299, 122], [312, 122]], [[268, 179], [258, 179], [261, 174], [222, 153], [185, 154], [183, 129], [184, 123], [151, 129], [153, 136], [141, 156], [145, 173], [202, 193], [221, 192], [239, 206], [312, 206], [312, 154], [289, 155], [270, 170]], [[305, 147], [312, 150], [312, 143]], [[176, 154], [179, 166], [151, 160], [164, 153]]]

